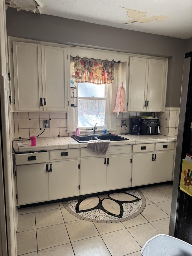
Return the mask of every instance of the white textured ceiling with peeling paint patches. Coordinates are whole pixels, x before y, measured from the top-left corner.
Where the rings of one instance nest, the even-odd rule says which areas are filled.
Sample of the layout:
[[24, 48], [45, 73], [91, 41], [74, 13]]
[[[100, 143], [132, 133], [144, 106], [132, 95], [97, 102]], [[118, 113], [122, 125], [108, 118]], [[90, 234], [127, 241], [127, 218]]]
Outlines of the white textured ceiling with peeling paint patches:
[[6, 0], [26, 11], [188, 39], [192, 0]]

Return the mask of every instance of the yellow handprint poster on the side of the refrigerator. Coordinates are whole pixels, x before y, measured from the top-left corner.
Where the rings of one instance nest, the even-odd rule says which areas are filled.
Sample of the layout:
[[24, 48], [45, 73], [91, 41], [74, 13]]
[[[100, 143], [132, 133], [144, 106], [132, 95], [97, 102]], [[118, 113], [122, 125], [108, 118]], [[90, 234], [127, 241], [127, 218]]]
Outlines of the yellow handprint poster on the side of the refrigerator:
[[192, 164], [183, 159], [180, 189], [192, 196]]

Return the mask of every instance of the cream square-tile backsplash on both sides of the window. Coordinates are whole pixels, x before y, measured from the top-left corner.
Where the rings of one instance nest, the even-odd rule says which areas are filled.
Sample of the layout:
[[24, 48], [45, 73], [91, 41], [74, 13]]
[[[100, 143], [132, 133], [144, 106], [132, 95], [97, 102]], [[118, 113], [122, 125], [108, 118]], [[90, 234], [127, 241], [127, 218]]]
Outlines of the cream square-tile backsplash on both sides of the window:
[[[110, 131], [115, 134], [127, 133], [130, 130], [130, 118], [135, 116], [154, 116], [155, 113], [119, 113], [116, 120], [117, 130]], [[160, 134], [167, 136], [177, 135], [179, 122], [179, 108], [165, 108], [165, 112], [158, 113], [160, 121]], [[11, 138], [29, 138], [31, 135], [37, 136], [44, 130], [43, 120], [49, 119], [50, 128], [46, 128], [39, 137], [63, 137], [70, 136], [67, 133], [66, 113], [44, 113], [44, 112], [13, 112], [10, 113]], [[121, 127], [121, 120], [125, 119], [125, 126]]]

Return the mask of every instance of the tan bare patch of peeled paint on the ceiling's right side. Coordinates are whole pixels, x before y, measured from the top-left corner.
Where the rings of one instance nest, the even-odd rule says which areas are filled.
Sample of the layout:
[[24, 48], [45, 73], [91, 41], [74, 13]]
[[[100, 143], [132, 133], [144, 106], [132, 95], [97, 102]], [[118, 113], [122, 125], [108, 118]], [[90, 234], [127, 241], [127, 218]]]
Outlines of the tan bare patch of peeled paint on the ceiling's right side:
[[126, 22], [125, 24], [129, 24], [129, 23], [134, 23], [134, 22], [141, 22], [141, 23], [149, 23], [152, 20], [157, 20], [159, 22], [164, 21], [165, 19], [169, 18], [168, 16], [163, 16], [163, 15], [159, 15], [159, 16], [153, 16], [150, 15], [147, 16], [147, 12], [141, 12], [141, 11], [136, 11], [136, 10], [132, 10], [132, 9], [127, 9], [125, 8], [128, 14], [128, 17], [131, 19], [130, 21]]

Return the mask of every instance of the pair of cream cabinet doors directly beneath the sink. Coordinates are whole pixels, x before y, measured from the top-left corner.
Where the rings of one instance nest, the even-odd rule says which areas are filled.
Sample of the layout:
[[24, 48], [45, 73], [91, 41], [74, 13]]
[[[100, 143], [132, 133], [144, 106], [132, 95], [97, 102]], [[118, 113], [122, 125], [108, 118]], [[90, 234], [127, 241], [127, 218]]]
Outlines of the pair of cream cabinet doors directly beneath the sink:
[[81, 159], [80, 194], [130, 186], [130, 155]]

